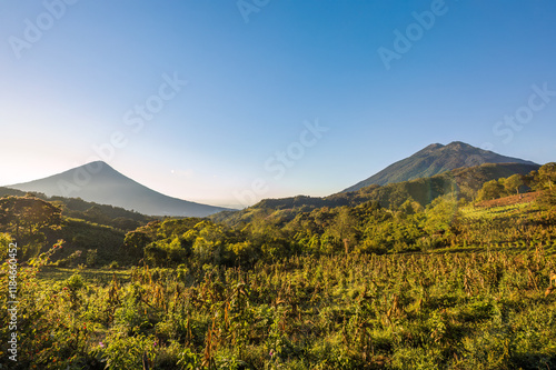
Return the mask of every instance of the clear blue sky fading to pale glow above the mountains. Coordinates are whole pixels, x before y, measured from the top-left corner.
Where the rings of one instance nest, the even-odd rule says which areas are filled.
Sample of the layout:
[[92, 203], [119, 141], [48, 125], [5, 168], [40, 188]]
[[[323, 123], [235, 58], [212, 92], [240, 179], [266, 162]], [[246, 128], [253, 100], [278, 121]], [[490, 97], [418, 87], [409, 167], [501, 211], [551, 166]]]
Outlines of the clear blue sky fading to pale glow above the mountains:
[[238, 207], [434, 142], [556, 161], [553, 0], [3, 0], [0, 36], [0, 184], [100, 158]]

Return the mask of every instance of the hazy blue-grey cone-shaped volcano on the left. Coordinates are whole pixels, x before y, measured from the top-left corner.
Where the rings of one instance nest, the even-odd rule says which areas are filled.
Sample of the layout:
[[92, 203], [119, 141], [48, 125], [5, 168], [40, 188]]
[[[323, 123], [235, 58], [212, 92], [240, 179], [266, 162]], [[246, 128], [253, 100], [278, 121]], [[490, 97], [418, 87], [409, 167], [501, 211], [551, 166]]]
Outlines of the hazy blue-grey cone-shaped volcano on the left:
[[[91, 174], [91, 169], [100, 169]], [[105, 162], [92, 162], [44, 179], [7, 186], [22, 191], [38, 191], [49, 197], [81, 198], [149, 216], [206, 217], [220, 207], [171, 198], [121, 174]]]

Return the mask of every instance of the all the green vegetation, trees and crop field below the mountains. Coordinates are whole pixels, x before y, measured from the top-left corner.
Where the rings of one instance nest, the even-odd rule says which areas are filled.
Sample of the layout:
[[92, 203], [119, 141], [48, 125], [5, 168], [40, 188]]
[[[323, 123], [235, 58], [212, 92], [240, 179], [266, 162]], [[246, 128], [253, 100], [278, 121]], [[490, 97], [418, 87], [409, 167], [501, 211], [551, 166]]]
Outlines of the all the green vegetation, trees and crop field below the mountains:
[[0, 364], [556, 368], [550, 166], [495, 180], [504, 193], [494, 198], [539, 194], [502, 207], [481, 196], [487, 180], [470, 197], [454, 187], [381, 203], [365, 199], [371, 187], [348, 196], [356, 202], [298, 197], [126, 228], [119, 210], [79, 200], [85, 210], [0, 198], [2, 260], [20, 246], [18, 363], [2, 347]]

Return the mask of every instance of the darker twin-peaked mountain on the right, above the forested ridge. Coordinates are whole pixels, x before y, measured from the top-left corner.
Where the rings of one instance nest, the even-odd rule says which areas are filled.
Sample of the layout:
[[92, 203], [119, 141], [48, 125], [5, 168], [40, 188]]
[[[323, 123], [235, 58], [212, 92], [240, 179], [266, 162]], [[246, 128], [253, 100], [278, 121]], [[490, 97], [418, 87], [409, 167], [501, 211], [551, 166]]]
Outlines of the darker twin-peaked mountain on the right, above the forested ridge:
[[510, 158], [475, 148], [465, 142], [454, 141], [447, 146], [430, 144], [411, 157], [388, 166], [370, 178], [349, 187], [341, 192], [356, 191], [370, 184], [385, 186], [420, 178], [429, 178], [463, 167], [484, 163], [536, 163], [518, 158]]

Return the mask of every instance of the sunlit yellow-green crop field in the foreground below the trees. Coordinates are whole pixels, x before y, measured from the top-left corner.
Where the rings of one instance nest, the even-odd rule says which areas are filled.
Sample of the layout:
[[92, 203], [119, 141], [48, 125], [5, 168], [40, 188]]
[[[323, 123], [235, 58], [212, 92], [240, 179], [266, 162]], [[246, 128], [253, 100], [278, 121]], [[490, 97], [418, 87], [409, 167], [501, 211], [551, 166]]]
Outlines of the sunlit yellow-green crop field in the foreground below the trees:
[[36, 264], [21, 274], [16, 368], [547, 369], [555, 266], [543, 248], [307, 256], [107, 283], [38, 279]]

